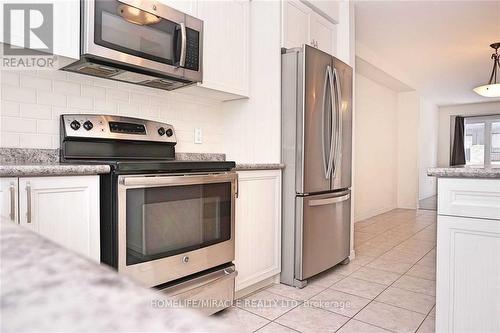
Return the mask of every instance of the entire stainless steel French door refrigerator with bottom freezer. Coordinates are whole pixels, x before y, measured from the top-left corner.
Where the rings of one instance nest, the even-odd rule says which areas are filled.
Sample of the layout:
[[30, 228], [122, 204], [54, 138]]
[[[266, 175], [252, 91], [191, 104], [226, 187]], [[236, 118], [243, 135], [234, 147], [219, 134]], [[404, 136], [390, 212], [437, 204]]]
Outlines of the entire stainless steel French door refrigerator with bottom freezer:
[[304, 45], [281, 75], [281, 282], [301, 288], [350, 253], [352, 68]]

